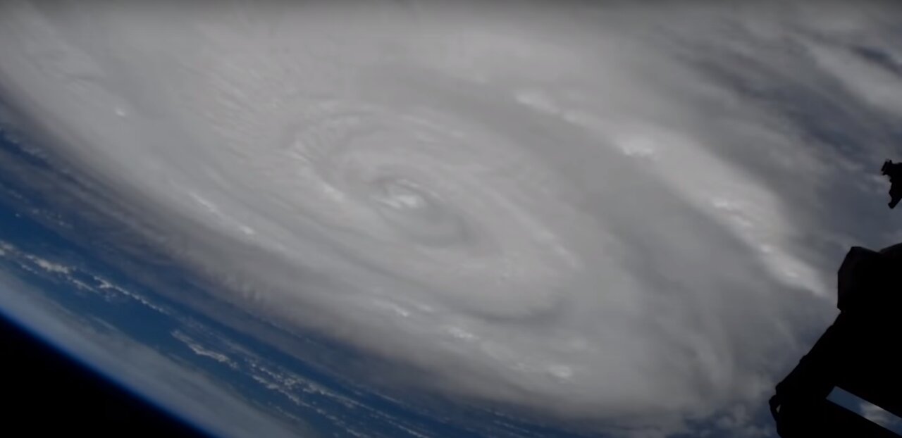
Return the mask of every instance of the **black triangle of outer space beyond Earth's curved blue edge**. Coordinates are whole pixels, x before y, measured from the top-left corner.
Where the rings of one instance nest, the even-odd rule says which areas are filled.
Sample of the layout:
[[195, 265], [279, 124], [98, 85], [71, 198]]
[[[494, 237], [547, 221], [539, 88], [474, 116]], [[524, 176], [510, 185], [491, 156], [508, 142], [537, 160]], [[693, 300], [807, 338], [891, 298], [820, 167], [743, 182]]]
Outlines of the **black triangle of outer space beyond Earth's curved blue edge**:
[[0, 317], [6, 430], [20, 436], [206, 437]]

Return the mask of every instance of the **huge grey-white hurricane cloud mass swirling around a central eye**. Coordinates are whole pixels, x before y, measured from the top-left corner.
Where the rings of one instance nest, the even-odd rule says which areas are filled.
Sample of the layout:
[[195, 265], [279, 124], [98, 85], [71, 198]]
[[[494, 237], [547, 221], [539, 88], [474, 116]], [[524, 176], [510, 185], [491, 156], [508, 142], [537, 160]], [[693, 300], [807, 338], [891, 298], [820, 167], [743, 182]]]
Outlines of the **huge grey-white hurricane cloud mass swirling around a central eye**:
[[878, 6], [252, 4], [5, 2], [0, 87], [95, 207], [395, 384], [676, 431], [759, 402], [888, 229], [818, 218], [872, 157], [779, 100], [902, 107], [843, 63]]

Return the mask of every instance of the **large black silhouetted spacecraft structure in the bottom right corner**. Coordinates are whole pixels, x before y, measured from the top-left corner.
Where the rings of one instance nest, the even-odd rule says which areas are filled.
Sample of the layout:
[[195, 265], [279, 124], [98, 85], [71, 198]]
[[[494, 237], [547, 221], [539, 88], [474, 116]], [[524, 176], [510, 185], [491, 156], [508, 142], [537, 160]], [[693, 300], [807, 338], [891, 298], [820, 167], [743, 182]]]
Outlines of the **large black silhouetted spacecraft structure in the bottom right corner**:
[[898, 438], [827, 397], [838, 388], [902, 416], [902, 243], [852, 247], [838, 280], [840, 315], [777, 385], [770, 412], [783, 438]]

